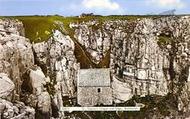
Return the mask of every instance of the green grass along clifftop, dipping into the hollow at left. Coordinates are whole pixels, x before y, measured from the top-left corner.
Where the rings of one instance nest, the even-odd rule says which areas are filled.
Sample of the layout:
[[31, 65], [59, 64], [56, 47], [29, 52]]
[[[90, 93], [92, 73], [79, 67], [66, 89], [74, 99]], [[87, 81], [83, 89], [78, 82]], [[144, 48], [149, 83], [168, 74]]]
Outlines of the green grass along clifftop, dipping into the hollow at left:
[[63, 23], [67, 33], [72, 37], [73, 31], [69, 28], [70, 23], [87, 22], [90, 20], [97, 20], [104, 22], [108, 20], [136, 20], [144, 16], [85, 16], [79, 17], [62, 17], [62, 16], [16, 16], [13, 18], [19, 19], [23, 22], [25, 28], [25, 35], [31, 42], [46, 41], [52, 34], [52, 30], [59, 29], [55, 21]]

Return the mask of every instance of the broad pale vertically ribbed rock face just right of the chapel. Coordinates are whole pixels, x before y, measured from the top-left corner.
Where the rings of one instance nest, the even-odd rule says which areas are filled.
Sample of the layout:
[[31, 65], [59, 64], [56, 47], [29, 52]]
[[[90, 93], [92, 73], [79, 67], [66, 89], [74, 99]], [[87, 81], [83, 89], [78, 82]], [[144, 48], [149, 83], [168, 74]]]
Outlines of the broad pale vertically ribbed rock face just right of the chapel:
[[117, 29], [115, 31], [110, 65], [132, 95], [166, 95], [168, 92], [163, 71], [168, 59], [157, 44], [156, 27], [153, 20], [143, 19], [137, 22], [132, 33], [123, 32], [121, 36]]

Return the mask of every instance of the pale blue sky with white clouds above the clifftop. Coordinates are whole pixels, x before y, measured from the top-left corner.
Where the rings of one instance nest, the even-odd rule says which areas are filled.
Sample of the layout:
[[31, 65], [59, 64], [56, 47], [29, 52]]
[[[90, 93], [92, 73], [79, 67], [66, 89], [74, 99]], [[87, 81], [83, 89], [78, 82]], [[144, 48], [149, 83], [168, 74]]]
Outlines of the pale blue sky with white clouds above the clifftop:
[[190, 13], [190, 0], [0, 0], [0, 16], [146, 15], [176, 9]]

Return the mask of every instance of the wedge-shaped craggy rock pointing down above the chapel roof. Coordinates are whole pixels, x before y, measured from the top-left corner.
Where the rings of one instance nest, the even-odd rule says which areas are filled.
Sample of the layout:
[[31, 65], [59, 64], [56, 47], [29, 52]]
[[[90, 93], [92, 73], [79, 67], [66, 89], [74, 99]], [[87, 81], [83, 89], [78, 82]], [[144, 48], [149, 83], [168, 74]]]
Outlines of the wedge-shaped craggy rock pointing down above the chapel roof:
[[105, 29], [105, 24], [90, 21], [81, 24], [71, 24], [75, 29], [75, 38], [90, 53], [92, 61], [98, 64], [110, 49], [111, 35]]

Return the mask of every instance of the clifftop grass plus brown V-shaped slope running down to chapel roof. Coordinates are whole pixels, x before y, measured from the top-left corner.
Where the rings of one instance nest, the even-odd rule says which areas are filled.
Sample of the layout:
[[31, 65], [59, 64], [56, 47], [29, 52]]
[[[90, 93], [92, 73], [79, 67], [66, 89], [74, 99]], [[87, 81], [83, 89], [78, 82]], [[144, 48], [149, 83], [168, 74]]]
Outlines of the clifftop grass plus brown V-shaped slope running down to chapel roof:
[[[16, 18], [22, 21], [25, 28], [25, 36], [30, 39], [31, 42], [42, 42], [47, 41], [52, 36], [53, 30], [60, 30], [62, 33], [67, 34], [75, 43], [75, 56], [77, 61], [80, 62], [81, 68], [102, 68], [109, 67], [110, 62], [110, 50], [107, 52], [106, 56], [100, 61], [99, 64], [95, 64], [92, 61], [92, 57], [86, 51], [85, 47], [82, 46], [77, 39], [74, 38], [74, 29], [69, 27], [70, 23], [81, 23], [88, 22], [90, 20], [96, 20], [98, 22], [97, 26], [92, 26], [94, 30], [102, 26], [105, 21], [113, 20], [128, 20], [134, 21], [138, 18], [155, 16], [121, 16], [121, 15], [111, 15], [111, 16], [85, 16], [79, 17], [62, 17], [62, 16], [14, 16], [14, 17], [0, 17], [0, 18]], [[156, 16], [157, 18], [157, 16]], [[62, 29], [60, 25], [55, 24], [55, 21], [59, 21], [63, 24]]]

